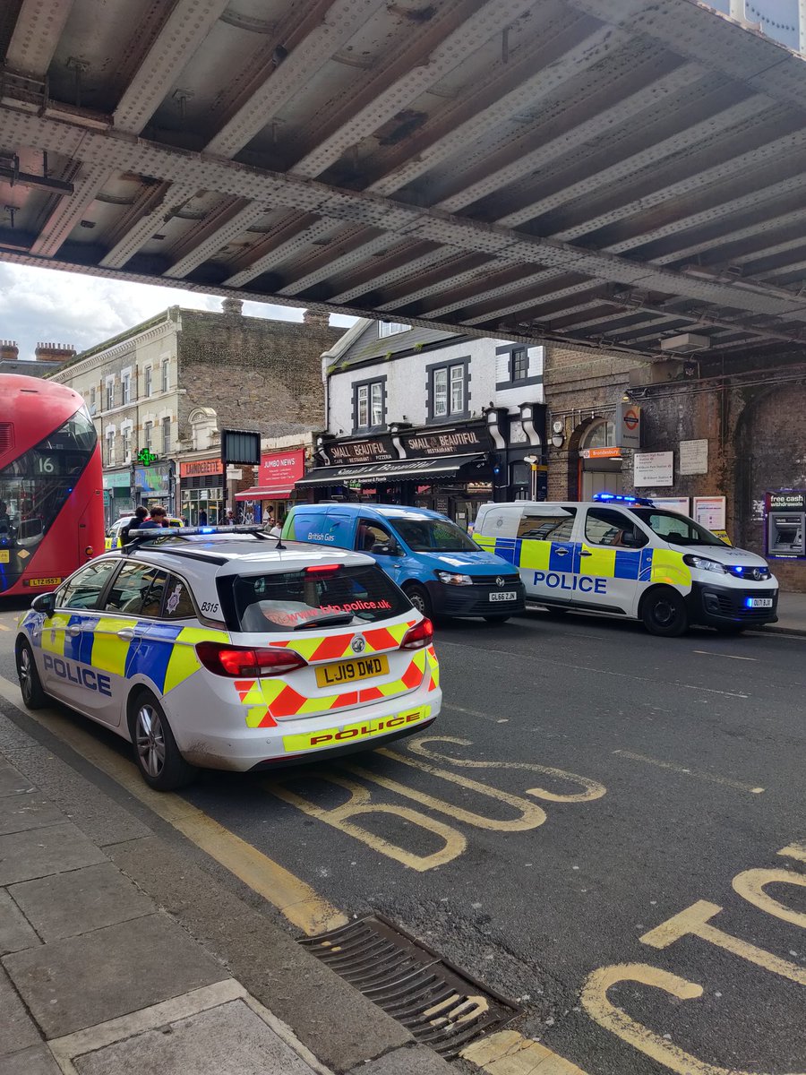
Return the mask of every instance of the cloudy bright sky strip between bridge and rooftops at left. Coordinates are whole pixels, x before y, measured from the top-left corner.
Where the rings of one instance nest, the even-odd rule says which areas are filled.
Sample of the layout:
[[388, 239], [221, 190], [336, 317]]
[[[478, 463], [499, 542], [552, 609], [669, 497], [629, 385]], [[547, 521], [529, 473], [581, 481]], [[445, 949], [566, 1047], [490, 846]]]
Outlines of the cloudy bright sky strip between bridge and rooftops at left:
[[[221, 298], [0, 262], [0, 339], [14, 340], [24, 359], [33, 358], [38, 343], [71, 344], [86, 350], [168, 306], [220, 310]], [[302, 320], [302, 310], [264, 302], [244, 302], [244, 314]], [[342, 314], [330, 317], [331, 325], [344, 328], [355, 320]]]

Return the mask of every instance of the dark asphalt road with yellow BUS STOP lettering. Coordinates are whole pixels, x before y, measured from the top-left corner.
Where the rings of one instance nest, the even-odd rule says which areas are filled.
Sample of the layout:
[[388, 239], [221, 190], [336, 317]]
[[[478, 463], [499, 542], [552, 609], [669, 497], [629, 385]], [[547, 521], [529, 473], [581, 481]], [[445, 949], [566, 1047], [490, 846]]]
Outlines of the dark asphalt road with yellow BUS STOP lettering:
[[437, 651], [422, 735], [186, 798], [589, 1075], [806, 1071], [806, 641], [531, 613]]

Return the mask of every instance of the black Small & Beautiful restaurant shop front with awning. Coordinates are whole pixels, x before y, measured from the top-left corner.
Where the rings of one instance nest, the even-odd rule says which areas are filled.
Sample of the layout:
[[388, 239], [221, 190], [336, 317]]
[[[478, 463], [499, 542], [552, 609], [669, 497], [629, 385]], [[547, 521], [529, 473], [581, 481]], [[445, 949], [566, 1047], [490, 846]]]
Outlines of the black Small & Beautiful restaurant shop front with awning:
[[392, 427], [388, 434], [319, 445], [317, 467], [297, 483], [317, 501], [429, 507], [469, 526], [492, 499], [495, 460], [485, 420], [441, 428]]

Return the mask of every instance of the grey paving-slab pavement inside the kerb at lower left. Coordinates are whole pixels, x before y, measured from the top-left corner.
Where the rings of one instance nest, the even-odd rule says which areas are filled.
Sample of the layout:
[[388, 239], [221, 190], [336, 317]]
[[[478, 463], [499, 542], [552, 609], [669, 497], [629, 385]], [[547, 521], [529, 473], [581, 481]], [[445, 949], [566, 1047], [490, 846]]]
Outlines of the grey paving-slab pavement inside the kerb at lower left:
[[[174, 862], [184, 876], [181, 855]], [[402, 1027], [385, 1038], [375, 1012], [388, 1019], [372, 1007], [359, 1033], [384, 1055], [336, 1071], [448, 1075]], [[0, 1013], [0, 1075], [334, 1072], [2, 752]], [[331, 1036], [337, 1045], [335, 1027]]]

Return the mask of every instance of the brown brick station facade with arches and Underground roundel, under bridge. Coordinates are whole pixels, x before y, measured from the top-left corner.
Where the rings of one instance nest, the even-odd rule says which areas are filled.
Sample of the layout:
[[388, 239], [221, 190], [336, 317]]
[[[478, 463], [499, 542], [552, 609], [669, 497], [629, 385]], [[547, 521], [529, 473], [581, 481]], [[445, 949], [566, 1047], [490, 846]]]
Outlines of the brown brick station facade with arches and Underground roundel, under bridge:
[[[550, 346], [545, 384], [550, 500], [607, 489], [689, 498], [693, 510], [695, 497], [724, 497], [733, 543], [765, 555], [765, 493], [806, 490], [806, 360], [749, 358], [728, 373], [707, 353], [653, 361]], [[671, 485], [636, 487], [636, 452], [618, 445], [624, 401], [641, 407], [638, 450], [672, 453]], [[702, 473], [685, 474], [680, 446], [692, 442]], [[806, 591], [806, 559], [775, 559], [773, 570], [783, 589]]]

